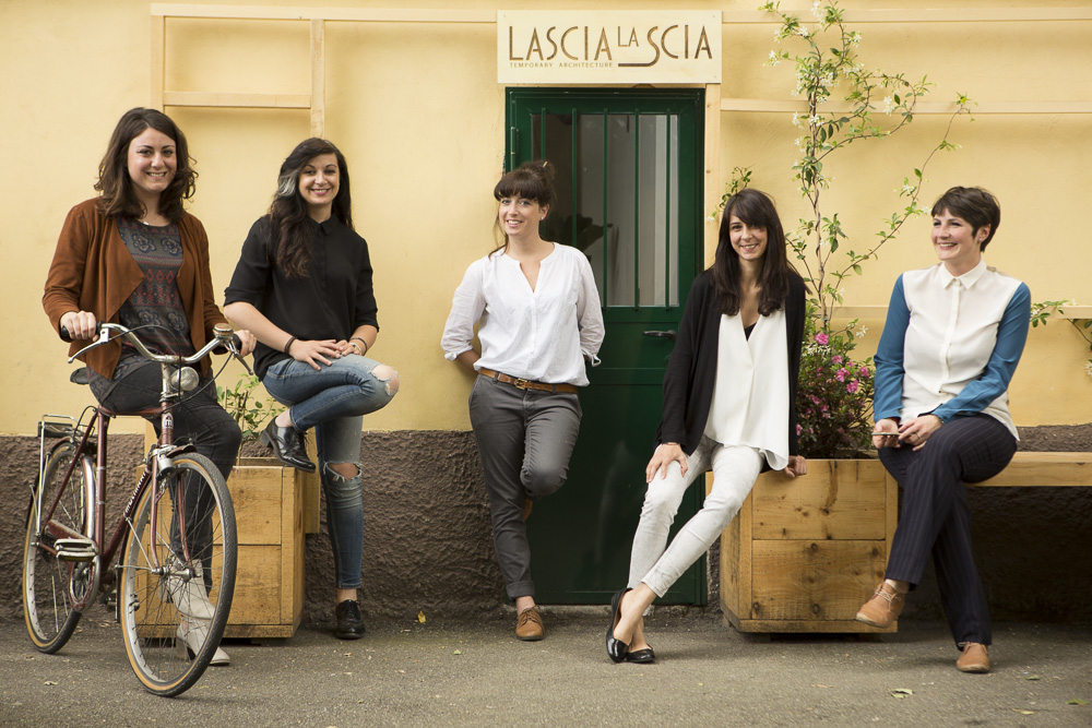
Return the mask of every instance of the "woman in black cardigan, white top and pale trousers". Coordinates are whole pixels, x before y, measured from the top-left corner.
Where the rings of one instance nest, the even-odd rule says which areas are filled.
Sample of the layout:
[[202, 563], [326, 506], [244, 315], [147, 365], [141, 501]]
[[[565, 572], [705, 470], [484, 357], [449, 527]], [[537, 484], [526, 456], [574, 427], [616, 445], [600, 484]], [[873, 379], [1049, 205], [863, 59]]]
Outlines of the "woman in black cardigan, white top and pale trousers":
[[[644, 610], [709, 550], [760, 472], [807, 473], [795, 414], [805, 290], [773, 201], [751, 189], [729, 198], [713, 266], [693, 282], [664, 373], [629, 586], [610, 602], [606, 647], [615, 663], [655, 660]], [[686, 489], [707, 470], [712, 490], [667, 546]]]

